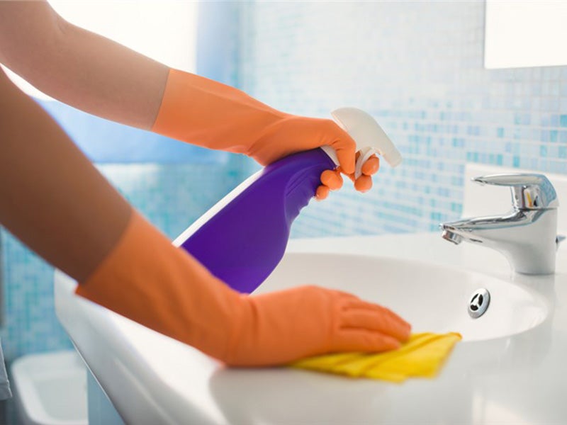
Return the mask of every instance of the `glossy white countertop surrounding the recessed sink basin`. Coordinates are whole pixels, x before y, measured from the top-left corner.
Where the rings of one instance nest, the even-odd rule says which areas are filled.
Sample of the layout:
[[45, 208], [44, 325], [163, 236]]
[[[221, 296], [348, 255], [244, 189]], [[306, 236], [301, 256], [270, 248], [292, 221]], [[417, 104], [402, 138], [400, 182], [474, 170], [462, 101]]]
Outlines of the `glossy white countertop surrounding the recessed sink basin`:
[[57, 314], [127, 423], [567, 423], [567, 244], [550, 276], [513, 276], [498, 252], [454, 246], [439, 233], [298, 239], [288, 252], [364, 254], [479, 271], [536, 291], [549, 313], [520, 334], [461, 341], [437, 378], [403, 384], [288, 368], [224, 368], [75, 296], [74, 282], [61, 275]]

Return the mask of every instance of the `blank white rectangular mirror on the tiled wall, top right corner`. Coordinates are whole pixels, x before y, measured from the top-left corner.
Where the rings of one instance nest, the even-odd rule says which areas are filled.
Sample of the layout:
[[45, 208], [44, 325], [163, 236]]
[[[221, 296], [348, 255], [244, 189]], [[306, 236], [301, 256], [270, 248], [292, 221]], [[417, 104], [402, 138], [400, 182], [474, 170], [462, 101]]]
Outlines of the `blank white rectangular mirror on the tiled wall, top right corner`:
[[486, 0], [484, 66], [567, 64], [567, 0]]

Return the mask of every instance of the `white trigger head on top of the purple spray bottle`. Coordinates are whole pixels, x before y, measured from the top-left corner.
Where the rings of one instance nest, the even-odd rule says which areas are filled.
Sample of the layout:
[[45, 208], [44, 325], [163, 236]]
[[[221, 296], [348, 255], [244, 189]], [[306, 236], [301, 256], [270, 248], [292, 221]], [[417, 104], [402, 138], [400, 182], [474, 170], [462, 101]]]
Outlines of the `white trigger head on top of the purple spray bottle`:
[[357, 142], [357, 160], [354, 178], [362, 174], [362, 166], [375, 153], [381, 154], [392, 167], [402, 162], [402, 155], [395, 148], [384, 130], [368, 113], [358, 108], [339, 108], [331, 113], [335, 122]]

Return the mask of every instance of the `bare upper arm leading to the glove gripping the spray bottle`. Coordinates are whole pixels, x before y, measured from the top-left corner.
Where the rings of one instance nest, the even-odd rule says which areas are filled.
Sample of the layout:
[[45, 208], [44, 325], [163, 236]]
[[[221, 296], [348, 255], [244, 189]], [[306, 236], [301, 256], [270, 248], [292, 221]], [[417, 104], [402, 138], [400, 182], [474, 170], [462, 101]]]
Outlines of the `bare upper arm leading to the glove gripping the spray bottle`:
[[0, 62], [45, 94], [152, 127], [169, 68], [64, 21], [47, 1], [0, 1]]

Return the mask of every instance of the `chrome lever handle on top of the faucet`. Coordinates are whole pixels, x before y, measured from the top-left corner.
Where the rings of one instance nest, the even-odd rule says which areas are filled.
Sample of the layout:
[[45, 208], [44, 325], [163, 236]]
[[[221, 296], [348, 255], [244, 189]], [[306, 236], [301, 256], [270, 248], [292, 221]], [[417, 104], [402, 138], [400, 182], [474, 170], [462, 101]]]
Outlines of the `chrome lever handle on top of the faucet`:
[[510, 186], [512, 203], [518, 210], [546, 210], [559, 206], [554, 186], [543, 174], [490, 174], [476, 177], [473, 181], [480, 184]]

